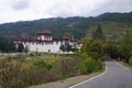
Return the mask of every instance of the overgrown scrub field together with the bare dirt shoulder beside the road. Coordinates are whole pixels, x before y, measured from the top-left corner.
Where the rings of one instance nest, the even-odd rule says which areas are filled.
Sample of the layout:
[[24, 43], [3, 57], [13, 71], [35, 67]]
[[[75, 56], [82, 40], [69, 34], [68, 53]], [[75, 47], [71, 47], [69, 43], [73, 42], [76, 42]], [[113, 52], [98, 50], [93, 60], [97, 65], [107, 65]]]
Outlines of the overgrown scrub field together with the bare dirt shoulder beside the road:
[[77, 55], [45, 54], [6, 57], [0, 61], [0, 66], [2, 66], [0, 72], [2, 88], [23, 88], [38, 84], [44, 85], [32, 87], [67, 88], [102, 73], [105, 63]]

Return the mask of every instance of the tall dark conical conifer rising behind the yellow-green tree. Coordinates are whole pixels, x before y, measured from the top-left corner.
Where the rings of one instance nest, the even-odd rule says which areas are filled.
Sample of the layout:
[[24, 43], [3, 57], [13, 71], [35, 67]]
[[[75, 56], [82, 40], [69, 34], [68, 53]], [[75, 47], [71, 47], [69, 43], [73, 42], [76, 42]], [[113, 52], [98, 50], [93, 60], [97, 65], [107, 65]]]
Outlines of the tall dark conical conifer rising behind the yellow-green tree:
[[102, 42], [106, 41], [105, 34], [102, 32], [102, 28], [101, 28], [100, 24], [98, 24], [97, 30], [95, 32], [92, 32], [92, 38], [94, 40], [99, 40], [99, 41], [102, 41]]

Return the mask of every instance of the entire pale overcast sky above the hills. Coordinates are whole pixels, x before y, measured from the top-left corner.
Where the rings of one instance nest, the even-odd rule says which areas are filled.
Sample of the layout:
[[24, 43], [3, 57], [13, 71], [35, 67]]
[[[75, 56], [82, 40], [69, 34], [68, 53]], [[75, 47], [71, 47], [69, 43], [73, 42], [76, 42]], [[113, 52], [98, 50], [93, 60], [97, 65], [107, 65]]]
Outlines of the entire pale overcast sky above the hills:
[[0, 0], [0, 23], [130, 11], [132, 0]]

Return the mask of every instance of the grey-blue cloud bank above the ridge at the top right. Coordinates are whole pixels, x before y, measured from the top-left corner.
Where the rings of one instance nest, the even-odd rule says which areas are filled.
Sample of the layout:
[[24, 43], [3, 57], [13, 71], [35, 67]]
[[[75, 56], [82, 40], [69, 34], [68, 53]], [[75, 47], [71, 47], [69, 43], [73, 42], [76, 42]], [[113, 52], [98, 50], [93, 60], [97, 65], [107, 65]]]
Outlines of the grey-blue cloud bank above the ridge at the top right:
[[103, 6], [90, 12], [90, 15], [98, 15], [105, 12], [130, 12], [132, 11], [132, 0], [109, 0]]

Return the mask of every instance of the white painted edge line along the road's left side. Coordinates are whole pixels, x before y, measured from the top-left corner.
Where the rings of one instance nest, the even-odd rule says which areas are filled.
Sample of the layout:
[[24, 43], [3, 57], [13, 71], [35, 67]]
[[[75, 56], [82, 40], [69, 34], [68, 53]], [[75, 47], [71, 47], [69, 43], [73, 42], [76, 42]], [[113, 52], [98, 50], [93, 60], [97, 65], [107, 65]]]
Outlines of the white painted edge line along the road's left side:
[[84, 81], [81, 81], [81, 82], [79, 82], [79, 84], [76, 84], [76, 85], [74, 85], [74, 86], [70, 86], [69, 88], [75, 88], [75, 87], [77, 87], [77, 86], [79, 86], [79, 85], [82, 85], [82, 84], [85, 84], [85, 82], [88, 82], [88, 81], [90, 81], [90, 80], [92, 80], [92, 79], [95, 79], [95, 78], [97, 78], [97, 77], [100, 77], [100, 76], [105, 75], [107, 72], [108, 72], [108, 67], [107, 67], [107, 63], [106, 63], [106, 70], [105, 70], [102, 74], [97, 75], [97, 76], [95, 76], [95, 77], [91, 77], [91, 78], [89, 78], [89, 79], [87, 79], [87, 80], [84, 80]]

